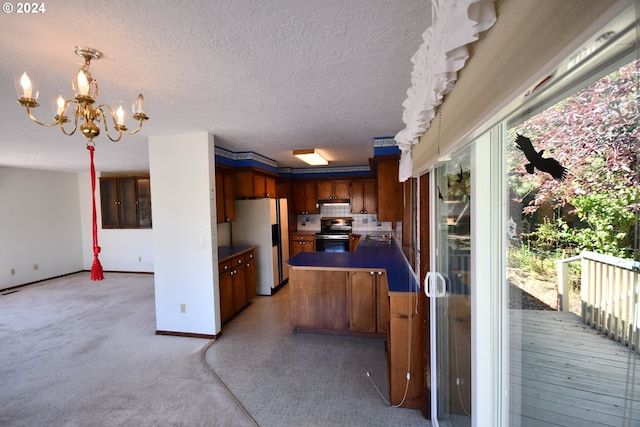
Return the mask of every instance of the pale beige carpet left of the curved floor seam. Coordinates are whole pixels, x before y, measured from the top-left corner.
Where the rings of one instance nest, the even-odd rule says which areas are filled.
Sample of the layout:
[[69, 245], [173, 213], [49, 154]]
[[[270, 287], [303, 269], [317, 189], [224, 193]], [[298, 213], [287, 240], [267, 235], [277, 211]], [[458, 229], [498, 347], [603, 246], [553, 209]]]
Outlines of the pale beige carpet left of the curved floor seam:
[[105, 275], [0, 292], [0, 425], [253, 425], [207, 340], [155, 335], [153, 276]]

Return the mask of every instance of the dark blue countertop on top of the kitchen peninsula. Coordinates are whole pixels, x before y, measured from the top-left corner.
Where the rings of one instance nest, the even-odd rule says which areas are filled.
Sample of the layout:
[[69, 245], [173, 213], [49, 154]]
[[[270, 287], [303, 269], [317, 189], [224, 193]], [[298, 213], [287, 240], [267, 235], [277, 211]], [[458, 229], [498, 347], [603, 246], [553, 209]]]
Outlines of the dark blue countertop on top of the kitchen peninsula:
[[402, 250], [391, 241], [361, 239], [355, 252], [300, 252], [286, 262], [293, 268], [384, 269], [389, 292], [416, 292], [418, 287]]

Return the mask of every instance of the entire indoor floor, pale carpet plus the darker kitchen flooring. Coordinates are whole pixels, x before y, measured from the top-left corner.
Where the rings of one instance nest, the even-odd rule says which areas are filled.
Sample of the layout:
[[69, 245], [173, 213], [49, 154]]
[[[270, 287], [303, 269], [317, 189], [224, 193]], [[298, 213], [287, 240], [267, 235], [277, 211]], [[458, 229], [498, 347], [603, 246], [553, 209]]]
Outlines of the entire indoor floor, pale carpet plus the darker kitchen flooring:
[[208, 340], [155, 335], [153, 275], [105, 275], [0, 291], [0, 425], [429, 425], [366, 377], [387, 393], [381, 340], [293, 333], [286, 287], [233, 319], [205, 364]]

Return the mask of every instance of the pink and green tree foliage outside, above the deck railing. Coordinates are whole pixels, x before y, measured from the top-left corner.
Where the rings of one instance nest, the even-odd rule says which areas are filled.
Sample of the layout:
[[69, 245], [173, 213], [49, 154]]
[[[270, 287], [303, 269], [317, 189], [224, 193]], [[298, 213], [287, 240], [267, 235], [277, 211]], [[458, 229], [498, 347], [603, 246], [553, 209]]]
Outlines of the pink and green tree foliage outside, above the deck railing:
[[[529, 175], [510, 144], [508, 182], [514, 199], [524, 202], [523, 215], [536, 224], [528, 236], [533, 245], [632, 256], [640, 213], [639, 65], [621, 67], [511, 130], [511, 141], [525, 135], [569, 169], [562, 182]], [[545, 204], [557, 215], [534, 220]]]

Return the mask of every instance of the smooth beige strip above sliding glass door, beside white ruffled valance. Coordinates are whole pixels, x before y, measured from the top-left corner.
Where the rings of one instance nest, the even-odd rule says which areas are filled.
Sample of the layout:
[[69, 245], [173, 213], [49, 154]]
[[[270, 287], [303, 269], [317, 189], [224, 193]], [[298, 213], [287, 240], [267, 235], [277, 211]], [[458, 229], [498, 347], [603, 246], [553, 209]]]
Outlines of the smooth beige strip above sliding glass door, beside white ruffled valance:
[[[480, 35], [445, 97], [440, 117], [413, 149], [413, 174], [494, 118], [509, 102], [553, 71], [629, 0], [499, 0], [497, 21]], [[587, 7], [588, 5], [588, 7]]]

